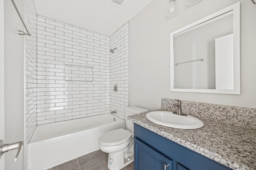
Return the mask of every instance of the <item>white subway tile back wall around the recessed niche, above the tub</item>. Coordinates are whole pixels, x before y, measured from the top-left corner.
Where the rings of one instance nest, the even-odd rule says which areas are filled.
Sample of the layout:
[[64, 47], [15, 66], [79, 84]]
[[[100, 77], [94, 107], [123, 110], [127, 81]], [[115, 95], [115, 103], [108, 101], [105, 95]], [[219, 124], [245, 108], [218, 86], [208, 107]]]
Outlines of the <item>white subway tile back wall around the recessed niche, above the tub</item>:
[[[110, 113], [110, 37], [43, 16], [37, 24], [37, 124]], [[92, 67], [93, 81], [65, 81], [65, 65]]]

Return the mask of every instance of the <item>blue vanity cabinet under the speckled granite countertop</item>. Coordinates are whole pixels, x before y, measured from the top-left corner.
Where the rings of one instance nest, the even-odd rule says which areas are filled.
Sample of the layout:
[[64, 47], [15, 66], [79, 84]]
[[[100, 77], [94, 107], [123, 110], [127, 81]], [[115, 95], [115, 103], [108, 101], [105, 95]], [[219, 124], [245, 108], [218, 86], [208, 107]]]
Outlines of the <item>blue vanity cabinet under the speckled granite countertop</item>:
[[134, 170], [232, 169], [134, 124]]

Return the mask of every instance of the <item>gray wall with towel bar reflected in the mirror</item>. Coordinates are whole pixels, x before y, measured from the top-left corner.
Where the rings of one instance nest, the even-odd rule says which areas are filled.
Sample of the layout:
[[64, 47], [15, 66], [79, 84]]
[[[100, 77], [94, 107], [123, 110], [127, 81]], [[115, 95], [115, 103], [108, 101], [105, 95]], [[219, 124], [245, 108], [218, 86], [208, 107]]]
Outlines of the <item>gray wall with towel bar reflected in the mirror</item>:
[[[222, 28], [215, 29], [215, 28]], [[233, 15], [174, 36], [174, 87], [176, 89], [215, 89], [215, 39], [233, 33]], [[186, 50], [184, 50], [186, 49]], [[233, 64], [232, 64], [233, 65]]]

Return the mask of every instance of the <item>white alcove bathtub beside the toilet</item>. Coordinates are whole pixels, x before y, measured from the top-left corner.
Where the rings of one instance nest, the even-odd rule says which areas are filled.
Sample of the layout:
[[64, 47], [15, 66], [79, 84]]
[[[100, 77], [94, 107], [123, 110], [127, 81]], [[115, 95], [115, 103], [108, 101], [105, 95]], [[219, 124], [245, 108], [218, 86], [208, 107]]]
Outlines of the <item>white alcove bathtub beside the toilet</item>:
[[125, 121], [111, 114], [38, 125], [28, 144], [28, 169], [46, 170], [98, 150], [98, 138], [124, 128]]

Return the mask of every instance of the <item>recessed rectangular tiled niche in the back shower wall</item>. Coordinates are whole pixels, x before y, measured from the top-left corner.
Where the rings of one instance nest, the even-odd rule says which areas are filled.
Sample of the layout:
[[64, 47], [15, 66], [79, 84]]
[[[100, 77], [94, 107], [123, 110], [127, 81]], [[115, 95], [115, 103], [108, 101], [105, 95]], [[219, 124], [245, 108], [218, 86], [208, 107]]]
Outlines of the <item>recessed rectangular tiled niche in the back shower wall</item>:
[[65, 64], [65, 81], [93, 81], [93, 67]]

